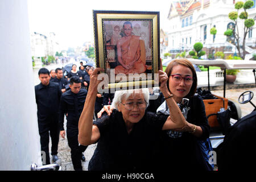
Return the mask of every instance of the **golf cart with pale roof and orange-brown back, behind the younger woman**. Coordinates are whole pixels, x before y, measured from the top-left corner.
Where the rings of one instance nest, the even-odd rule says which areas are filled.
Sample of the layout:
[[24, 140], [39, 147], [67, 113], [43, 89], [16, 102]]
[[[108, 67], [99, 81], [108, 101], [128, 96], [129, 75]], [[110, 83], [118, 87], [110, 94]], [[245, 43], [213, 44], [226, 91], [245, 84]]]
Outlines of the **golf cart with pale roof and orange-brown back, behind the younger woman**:
[[[228, 108], [231, 110], [232, 119], [241, 118], [241, 109], [238, 104], [232, 102], [225, 98], [226, 94], [226, 69], [253, 69], [255, 86], [256, 86], [256, 61], [249, 60], [198, 60], [198, 59], [188, 59], [192, 64], [195, 65], [204, 65], [208, 68], [208, 90], [210, 90], [210, 79], [209, 79], [209, 66], [220, 67], [224, 70], [224, 94], [223, 97], [216, 96], [216, 100], [203, 100], [205, 104], [205, 112], [208, 117], [209, 125], [211, 127], [210, 132], [210, 142], [212, 143], [213, 149], [217, 148], [220, 143], [223, 142], [225, 137], [225, 132], [223, 127], [220, 126], [220, 121], [217, 119], [217, 115], [221, 112], [224, 112]], [[225, 119], [224, 119], [225, 120]], [[224, 121], [225, 122], [225, 121]], [[233, 124], [233, 123], [232, 123]]]

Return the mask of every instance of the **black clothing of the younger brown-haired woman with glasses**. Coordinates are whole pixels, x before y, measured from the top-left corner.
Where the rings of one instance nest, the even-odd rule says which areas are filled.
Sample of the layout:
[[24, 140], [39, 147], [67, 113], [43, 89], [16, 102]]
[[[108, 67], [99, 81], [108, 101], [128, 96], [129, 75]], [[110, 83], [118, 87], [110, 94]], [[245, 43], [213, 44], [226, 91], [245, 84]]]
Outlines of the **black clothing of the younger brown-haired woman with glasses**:
[[[164, 101], [163, 94], [159, 94], [157, 100], [150, 100], [148, 109], [156, 112], [156, 109]], [[166, 131], [162, 131], [160, 140], [160, 151], [156, 155], [159, 157], [158, 166], [166, 170], [207, 170], [204, 166], [204, 158], [201, 155], [197, 140], [209, 137], [210, 126], [205, 115], [205, 106], [201, 96], [196, 95], [189, 98], [189, 110], [187, 121], [189, 123], [200, 126], [203, 134], [200, 138], [196, 138], [193, 134], [183, 132], [179, 138], [171, 138]]]

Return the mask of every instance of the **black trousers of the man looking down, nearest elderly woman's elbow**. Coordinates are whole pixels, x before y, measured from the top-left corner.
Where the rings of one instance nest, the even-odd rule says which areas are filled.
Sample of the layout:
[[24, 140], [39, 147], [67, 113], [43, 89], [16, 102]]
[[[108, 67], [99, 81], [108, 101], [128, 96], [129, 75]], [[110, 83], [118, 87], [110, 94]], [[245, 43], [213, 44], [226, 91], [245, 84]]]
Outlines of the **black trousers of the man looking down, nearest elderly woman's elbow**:
[[73, 163], [73, 167], [75, 171], [82, 171], [82, 152], [84, 152], [87, 146], [82, 146], [78, 142], [78, 126], [67, 125], [67, 138], [68, 138], [68, 146], [71, 148], [71, 159]]

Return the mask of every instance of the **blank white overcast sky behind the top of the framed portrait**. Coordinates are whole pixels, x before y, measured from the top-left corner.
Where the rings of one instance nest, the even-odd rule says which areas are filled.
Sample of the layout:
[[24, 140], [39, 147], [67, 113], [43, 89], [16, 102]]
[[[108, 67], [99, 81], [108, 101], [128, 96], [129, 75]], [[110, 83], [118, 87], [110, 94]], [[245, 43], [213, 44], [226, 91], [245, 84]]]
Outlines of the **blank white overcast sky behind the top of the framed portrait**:
[[166, 30], [169, 0], [27, 0], [31, 32], [55, 32], [67, 47], [93, 41], [92, 10], [160, 11], [160, 28]]

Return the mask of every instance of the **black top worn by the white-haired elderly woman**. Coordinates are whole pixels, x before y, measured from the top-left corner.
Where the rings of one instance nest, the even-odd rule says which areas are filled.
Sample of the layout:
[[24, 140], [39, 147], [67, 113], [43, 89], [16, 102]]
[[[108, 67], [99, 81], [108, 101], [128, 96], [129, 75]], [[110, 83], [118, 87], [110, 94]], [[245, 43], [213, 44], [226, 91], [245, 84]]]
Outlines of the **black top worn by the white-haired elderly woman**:
[[100, 139], [89, 162], [89, 171], [133, 171], [157, 168], [154, 165], [159, 135], [167, 115], [147, 112], [128, 134], [122, 113], [103, 115], [93, 122]]

